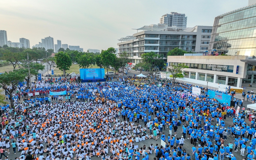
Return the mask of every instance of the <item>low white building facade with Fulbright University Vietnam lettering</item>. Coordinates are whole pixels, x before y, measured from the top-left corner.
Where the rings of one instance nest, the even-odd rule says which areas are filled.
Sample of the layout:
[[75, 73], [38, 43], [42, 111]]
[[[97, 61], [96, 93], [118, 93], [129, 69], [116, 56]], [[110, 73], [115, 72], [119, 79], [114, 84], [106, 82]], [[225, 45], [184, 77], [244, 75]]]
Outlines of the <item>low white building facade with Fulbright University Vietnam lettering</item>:
[[183, 70], [184, 77], [222, 85], [241, 87], [242, 82], [254, 82], [249, 79], [248, 56], [168, 56], [168, 66], [184, 63], [189, 68]]

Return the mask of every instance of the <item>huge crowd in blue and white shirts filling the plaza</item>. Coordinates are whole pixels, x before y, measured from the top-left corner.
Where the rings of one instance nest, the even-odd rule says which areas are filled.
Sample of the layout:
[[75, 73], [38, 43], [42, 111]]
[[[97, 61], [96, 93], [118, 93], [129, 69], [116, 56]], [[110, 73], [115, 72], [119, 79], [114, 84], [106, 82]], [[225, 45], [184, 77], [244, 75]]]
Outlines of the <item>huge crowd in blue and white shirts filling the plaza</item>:
[[[10, 147], [21, 160], [236, 160], [238, 148], [243, 158], [255, 158], [255, 117], [246, 123], [244, 110], [235, 114], [235, 108], [209, 98], [203, 87], [196, 86], [205, 94], [194, 96], [187, 83], [120, 80], [76, 83], [60, 78], [37, 81], [32, 90], [18, 86], [15, 109], [6, 105], [0, 111], [0, 160], [8, 158]], [[226, 126], [229, 117], [233, 125]], [[234, 141], [224, 145], [228, 136]], [[192, 149], [183, 147], [186, 138]], [[149, 139], [155, 143], [139, 143]]]

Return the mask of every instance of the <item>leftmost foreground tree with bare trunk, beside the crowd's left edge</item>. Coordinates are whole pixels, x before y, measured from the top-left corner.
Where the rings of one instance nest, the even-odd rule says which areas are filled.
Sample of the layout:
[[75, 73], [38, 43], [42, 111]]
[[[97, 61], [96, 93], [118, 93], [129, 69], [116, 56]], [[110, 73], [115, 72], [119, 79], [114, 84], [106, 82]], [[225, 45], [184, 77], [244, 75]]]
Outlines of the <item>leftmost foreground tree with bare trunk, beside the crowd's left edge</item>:
[[12, 108], [13, 106], [13, 92], [17, 89], [17, 85], [19, 82], [23, 82], [25, 79], [26, 74], [19, 71], [10, 71], [9, 73], [5, 72], [0, 74], [0, 87], [2, 87], [6, 93], [10, 96], [10, 105]]

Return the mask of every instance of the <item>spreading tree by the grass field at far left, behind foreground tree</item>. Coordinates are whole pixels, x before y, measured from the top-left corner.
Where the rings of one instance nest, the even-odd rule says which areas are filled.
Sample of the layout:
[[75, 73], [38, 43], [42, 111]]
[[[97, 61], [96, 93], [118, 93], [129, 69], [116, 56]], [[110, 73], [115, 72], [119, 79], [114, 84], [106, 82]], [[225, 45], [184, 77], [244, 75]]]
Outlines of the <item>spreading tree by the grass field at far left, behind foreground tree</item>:
[[24, 58], [24, 54], [10, 52], [9, 50], [5, 50], [5, 53], [3, 53], [2, 57], [2, 59], [10, 62], [13, 65], [13, 69], [15, 69], [16, 66], [19, 65], [19, 61]]

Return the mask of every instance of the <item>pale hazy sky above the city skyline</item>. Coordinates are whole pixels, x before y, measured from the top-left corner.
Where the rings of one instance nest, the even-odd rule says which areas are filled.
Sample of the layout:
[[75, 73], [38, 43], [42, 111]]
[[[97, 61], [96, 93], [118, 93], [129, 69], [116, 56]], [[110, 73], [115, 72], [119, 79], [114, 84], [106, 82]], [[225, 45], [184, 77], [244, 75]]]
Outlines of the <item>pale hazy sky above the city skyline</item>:
[[1, 0], [0, 30], [7, 31], [8, 41], [29, 39], [30, 47], [50, 36], [54, 44], [105, 50], [170, 12], [185, 14], [187, 27], [212, 26], [216, 16], [247, 5], [248, 0]]

